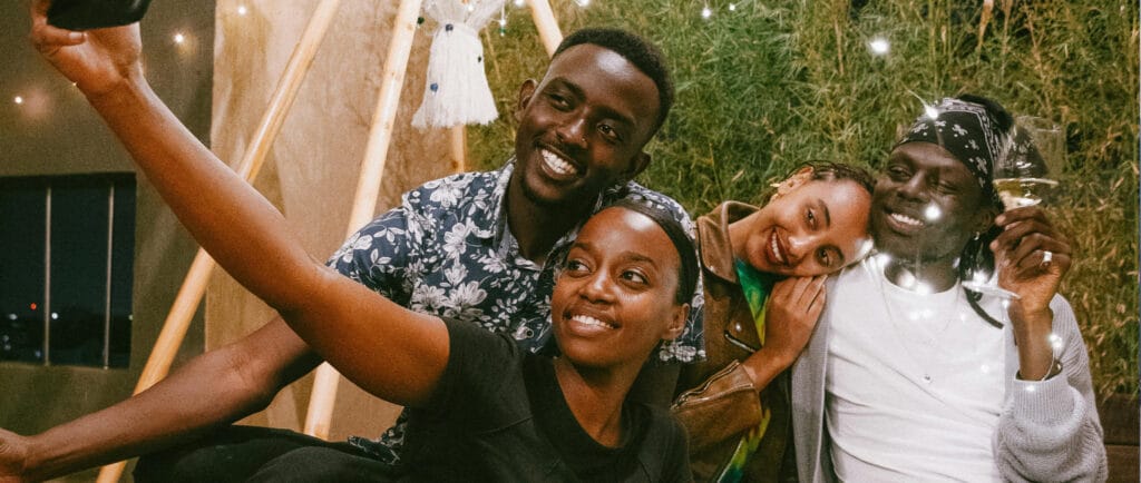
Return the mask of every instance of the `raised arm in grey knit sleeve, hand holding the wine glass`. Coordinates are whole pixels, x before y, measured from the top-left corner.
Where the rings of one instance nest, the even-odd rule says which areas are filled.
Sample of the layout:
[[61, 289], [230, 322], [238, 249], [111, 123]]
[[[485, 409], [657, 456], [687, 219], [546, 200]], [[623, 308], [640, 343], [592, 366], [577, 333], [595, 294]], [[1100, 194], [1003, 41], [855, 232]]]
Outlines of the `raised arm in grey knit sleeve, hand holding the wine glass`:
[[1019, 295], [1008, 310], [1018, 373], [1008, 380], [995, 432], [998, 469], [1010, 481], [1103, 481], [1106, 452], [1089, 357], [1073, 309], [1057, 296], [1073, 262], [1069, 240], [1037, 206], [1008, 211], [996, 221], [1003, 232], [990, 247], [998, 284]]

